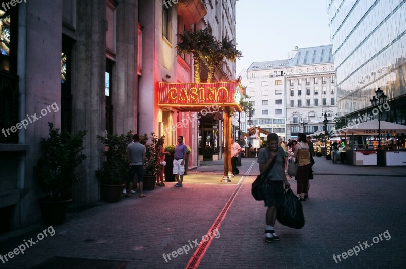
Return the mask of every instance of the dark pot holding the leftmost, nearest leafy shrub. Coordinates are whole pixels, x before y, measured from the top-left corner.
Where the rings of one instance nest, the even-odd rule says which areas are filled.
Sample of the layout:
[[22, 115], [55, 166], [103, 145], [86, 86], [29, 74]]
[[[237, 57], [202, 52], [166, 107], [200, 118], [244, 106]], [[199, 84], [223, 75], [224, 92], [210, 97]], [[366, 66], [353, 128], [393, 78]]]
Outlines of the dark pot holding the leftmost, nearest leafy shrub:
[[42, 221], [46, 225], [63, 224], [67, 207], [72, 203], [72, 199], [56, 201], [40, 198], [38, 201], [40, 202]]

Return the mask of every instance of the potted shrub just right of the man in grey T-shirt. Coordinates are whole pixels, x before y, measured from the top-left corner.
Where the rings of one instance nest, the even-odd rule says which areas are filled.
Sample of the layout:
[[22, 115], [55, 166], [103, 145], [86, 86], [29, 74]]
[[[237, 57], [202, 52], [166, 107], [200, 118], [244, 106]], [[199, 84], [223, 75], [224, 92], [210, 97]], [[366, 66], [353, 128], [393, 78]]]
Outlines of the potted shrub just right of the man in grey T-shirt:
[[[151, 140], [148, 142], [148, 140]], [[156, 176], [159, 169], [159, 152], [156, 150], [159, 143], [163, 144], [163, 137], [159, 138], [155, 136], [155, 133], [150, 134], [150, 138], [147, 134], [140, 136], [140, 143], [145, 145], [145, 165], [144, 165], [144, 190], [154, 190]]]

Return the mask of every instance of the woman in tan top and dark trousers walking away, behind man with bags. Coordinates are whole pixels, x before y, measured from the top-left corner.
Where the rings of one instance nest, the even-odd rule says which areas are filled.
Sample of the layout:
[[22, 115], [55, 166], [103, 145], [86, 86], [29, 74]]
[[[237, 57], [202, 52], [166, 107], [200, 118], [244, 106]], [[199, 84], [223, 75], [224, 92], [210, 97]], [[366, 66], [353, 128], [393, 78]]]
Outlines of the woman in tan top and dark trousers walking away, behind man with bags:
[[295, 146], [294, 158], [297, 158], [298, 170], [297, 170], [297, 194], [300, 201], [306, 201], [306, 191], [309, 184], [309, 170], [310, 164], [310, 152], [309, 146], [306, 143], [306, 136], [303, 133], [297, 134], [299, 142]]

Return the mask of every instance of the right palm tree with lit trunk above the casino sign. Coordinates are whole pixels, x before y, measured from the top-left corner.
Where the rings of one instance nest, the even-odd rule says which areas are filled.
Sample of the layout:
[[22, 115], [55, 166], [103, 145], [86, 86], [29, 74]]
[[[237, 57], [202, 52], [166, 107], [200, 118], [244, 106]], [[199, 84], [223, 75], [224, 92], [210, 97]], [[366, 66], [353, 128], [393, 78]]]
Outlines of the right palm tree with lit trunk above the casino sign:
[[224, 37], [221, 42], [215, 41], [210, 43], [212, 51], [210, 57], [205, 57], [204, 61], [209, 69], [207, 76], [207, 82], [213, 81], [214, 72], [221, 61], [226, 58], [227, 60], [234, 61], [240, 59], [241, 51], [236, 49], [234, 40], [228, 40], [228, 37]]

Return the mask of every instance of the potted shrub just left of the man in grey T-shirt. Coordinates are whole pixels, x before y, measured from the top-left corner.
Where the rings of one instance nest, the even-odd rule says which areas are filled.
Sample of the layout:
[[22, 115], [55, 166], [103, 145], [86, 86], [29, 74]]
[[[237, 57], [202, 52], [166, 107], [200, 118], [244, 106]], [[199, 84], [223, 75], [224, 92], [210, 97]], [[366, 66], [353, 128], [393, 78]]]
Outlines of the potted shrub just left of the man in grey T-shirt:
[[97, 136], [97, 139], [107, 148], [103, 152], [106, 159], [96, 171], [100, 180], [101, 197], [106, 202], [115, 203], [120, 200], [123, 180], [128, 176], [130, 167], [127, 157], [128, 137], [124, 134], [108, 134], [106, 137]]

